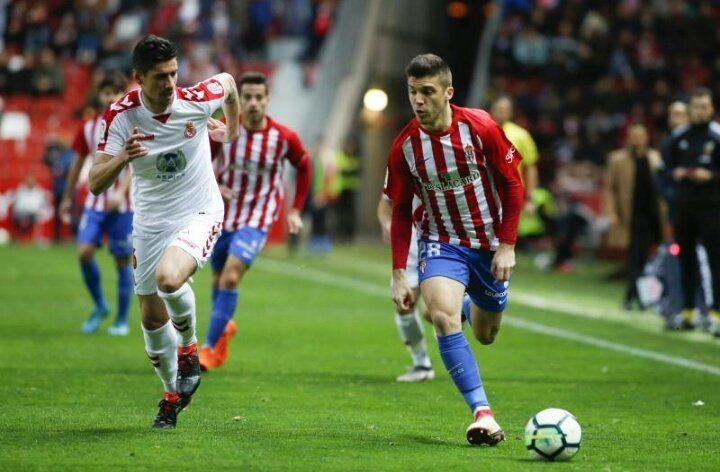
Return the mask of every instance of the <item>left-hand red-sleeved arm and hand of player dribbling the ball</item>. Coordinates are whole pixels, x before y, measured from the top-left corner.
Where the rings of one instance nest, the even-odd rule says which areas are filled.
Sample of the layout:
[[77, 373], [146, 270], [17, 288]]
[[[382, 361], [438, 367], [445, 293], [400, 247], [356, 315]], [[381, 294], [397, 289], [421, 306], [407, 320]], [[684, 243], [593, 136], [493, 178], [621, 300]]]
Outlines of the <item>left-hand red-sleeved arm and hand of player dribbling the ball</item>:
[[388, 158], [387, 195], [392, 200], [390, 246], [392, 248], [392, 296], [398, 308], [408, 310], [415, 294], [405, 276], [412, 238], [413, 178], [397, 143]]

